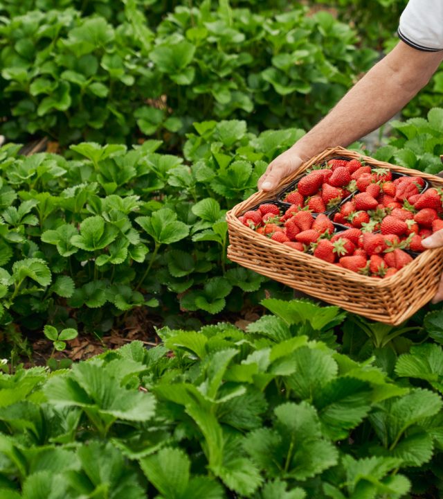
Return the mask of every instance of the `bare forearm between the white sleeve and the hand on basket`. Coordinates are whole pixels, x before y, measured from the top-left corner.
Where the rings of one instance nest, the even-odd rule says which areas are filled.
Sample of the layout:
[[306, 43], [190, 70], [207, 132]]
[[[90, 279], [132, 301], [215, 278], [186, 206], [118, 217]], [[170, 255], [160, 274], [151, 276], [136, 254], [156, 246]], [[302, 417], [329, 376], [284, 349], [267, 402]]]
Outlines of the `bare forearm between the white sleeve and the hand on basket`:
[[[308, 159], [329, 146], [346, 147], [372, 132], [426, 85], [441, 57], [439, 53], [419, 53], [400, 42], [291, 150]], [[419, 61], [419, 71], [414, 58]]]

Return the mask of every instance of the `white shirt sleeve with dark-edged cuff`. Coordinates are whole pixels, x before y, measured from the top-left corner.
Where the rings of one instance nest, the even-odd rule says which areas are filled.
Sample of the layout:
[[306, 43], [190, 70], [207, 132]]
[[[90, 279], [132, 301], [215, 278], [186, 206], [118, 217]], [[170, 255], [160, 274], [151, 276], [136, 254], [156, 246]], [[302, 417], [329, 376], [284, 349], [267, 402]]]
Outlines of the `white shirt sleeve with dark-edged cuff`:
[[414, 49], [443, 50], [443, 0], [409, 0], [401, 14], [398, 33]]

